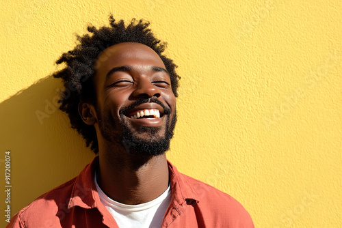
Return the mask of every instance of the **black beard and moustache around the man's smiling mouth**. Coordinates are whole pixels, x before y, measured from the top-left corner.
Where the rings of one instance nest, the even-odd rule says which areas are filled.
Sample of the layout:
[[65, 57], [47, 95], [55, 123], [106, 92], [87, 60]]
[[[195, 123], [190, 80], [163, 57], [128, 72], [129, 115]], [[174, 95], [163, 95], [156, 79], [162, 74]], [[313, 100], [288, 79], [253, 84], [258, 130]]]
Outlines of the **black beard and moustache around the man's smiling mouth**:
[[[123, 113], [133, 109], [135, 106], [144, 104], [147, 102], [155, 102], [163, 107], [164, 116], [166, 118], [165, 132], [162, 137], [157, 137], [157, 133], [161, 130], [161, 127], [146, 127], [140, 126], [137, 132], [129, 127], [128, 120], [124, 118]], [[176, 111], [171, 119], [171, 109], [163, 105], [156, 98], [137, 100], [130, 106], [122, 108], [119, 111], [120, 120], [115, 121], [116, 118], [111, 115], [109, 110], [103, 113], [96, 110], [98, 113], [98, 128], [104, 139], [115, 145], [120, 143], [129, 154], [136, 154], [140, 156], [157, 156], [164, 154], [170, 149], [170, 141], [174, 135], [174, 128], [176, 126]], [[121, 134], [118, 134], [116, 130], [121, 129]], [[137, 134], [148, 134], [149, 139], [141, 139]]]

